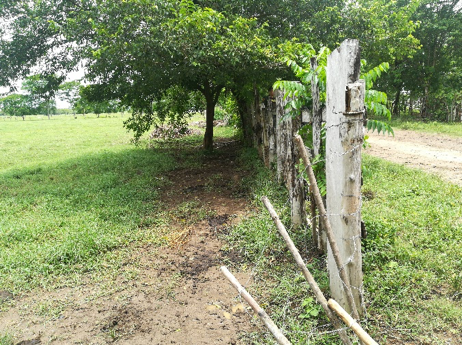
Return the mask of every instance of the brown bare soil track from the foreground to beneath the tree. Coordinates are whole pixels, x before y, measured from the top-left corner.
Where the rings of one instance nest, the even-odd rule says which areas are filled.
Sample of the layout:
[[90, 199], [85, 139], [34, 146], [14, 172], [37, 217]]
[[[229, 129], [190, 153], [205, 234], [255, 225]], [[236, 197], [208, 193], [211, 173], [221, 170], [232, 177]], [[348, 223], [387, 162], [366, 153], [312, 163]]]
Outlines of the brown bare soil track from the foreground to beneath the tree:
[[[239, 344], [256, 326], [219, 270], [239, 258], [222, 250], [218, 234], [247, 212], [240, 183], [247, 172], [236, 164], [237, 144], [221, 146], [200, 167], [168, 175], [169, 245], [128, 248], [110, 279], [83, 277], [73, 287], [22, 296], [1, 292], [0, 334], [12, 334], [15, 344]], [[206, 215], [177, 211], [188, 203]], [[251, 281], [249, 273], [236, 276]]]

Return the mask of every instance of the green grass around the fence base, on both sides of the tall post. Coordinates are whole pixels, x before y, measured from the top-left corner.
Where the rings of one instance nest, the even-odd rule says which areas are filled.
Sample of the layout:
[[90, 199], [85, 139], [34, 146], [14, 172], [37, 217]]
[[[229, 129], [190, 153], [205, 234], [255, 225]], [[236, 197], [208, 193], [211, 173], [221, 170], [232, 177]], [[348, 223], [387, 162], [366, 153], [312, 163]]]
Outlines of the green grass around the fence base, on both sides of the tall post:
[[[254, 154], [254, 153], [253, 153]], [[290, 229], [287, 192], [251, 151], [242, 156], [254, 172], [246, 184], [257, 212], [235, 226], [227, 250], [245, 263], [234, 270], [256, 273], [248, 289], [293, 344], [340, 344], [324, 313], [313, 315], [313, 297], [260, 197], [267, 195], [328, 295], [325, 260], [313, 255], [310, 231]], [[379, 343], [459, 343], [462, 339], [462, 190], [433, 175], [366, 156], [363, 219], [365, 301], [363, 326]], [[275, 344], [265, 330], [244, 343]]]

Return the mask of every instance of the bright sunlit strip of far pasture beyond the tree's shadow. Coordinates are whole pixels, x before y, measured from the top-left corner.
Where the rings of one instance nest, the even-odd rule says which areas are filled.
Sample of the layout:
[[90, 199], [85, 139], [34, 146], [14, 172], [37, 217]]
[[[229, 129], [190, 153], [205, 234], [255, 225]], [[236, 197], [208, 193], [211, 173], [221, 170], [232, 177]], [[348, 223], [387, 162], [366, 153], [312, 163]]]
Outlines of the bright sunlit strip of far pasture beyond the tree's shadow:
[[125, 118], [112, 115], [28, 116], [26, 121], [0, 118], [0, 171], [61, 162], [127, 147], [132, 136], [122, 127]]

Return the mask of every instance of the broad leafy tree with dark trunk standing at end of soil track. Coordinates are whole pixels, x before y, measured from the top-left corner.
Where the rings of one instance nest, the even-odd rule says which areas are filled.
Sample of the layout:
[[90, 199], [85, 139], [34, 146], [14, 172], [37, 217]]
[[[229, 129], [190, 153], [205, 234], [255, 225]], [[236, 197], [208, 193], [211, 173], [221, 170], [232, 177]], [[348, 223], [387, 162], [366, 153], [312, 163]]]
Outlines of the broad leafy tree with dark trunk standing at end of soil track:
[[153, 121], [153, 104], [179, 87], [203, 95], [204, 147], [211, 149], [223, 88], [233, 86], [236, 74], [253, 75], [274, 59], [266, 29], [255, 19], [227, 17], [189, 0], [169, 4], [162, 15], [158, 4], [138, 1], [100, 10], [116, 16], [111, 23], [117, 25], [108, 25], [106, 16], [90, 19], [98, 49], [89, 52], [89, 75], [98, 80], [100, 95], [132, 107], [127, 125], [138, 136]]

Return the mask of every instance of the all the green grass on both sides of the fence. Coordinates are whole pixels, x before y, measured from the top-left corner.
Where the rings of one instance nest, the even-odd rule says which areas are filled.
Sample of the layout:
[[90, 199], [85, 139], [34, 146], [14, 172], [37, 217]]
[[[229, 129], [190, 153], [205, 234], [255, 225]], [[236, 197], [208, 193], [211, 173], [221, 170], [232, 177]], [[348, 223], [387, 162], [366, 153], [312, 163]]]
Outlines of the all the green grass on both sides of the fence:
[[[163, 243], [168, 219], [158, 195], [181, 151], [130, 144], [118, 115], [0, 121], [0, 291], [79, 284], [85, 272], [117, 270], [118, 256], [136, 243]], [[257, 274], [251, 293], [293, 344], [339, 343], [260, 202], [268, 196], [288, 224], [287, 192], [254, 150], [243, 150], [239, 164], [252, 172], [242, 183], [254, 212], [223, 235], [223, 251], [240, 253], [235, 269]], [[380, 343], [462, 343], [461, 188], [368, 156], [365, 167], [363, 325]], [[313, 255], [310, 230], [291, 233], [327, 293], [325, 259]], [[274, 343], [269, 333], [242, 341]], [[0, 344], [11, 343], [0, 334]]]

